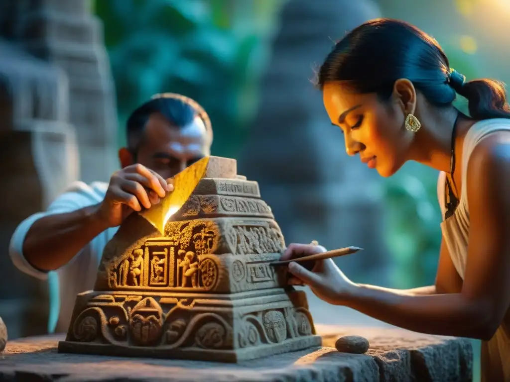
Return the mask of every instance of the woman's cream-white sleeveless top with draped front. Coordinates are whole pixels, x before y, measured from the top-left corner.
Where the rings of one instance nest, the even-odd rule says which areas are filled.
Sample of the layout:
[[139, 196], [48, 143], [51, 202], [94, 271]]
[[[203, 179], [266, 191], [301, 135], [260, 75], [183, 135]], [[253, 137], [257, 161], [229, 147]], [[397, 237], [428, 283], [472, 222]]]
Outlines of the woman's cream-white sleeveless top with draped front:
[[[475, 146], [483, 138], [496, 131], [510, 131], [510, 119], [488, 119], [475, 123], [469, 129], [464, 139], [462, 150], [462, 191], [459, 204], [455, 213], [441, 223], [441, 230], [450, 257], [458, 274], [464, 280], [466, 262], [468, 258], [469, 241], [469, 206], [467, 195], [467, 170], [468, 161]], [[438, 179], [438, 200], [441, 207], [441, 215], [444, 219], [445, 206], [445, 182], [446, 174], [441, 172]]]

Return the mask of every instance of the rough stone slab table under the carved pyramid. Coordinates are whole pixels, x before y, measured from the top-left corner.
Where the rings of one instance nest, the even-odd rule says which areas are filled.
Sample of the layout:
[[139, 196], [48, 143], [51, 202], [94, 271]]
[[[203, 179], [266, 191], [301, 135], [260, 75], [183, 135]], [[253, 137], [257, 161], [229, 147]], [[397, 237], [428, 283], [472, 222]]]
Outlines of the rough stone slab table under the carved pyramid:
[[[61, 335], [10, 341], [0, 353], [0, 381], [471, 381], [466, 339], [399, 329], [316, 325], [323, 346], [242, 364], [57, 353]], [[340, 336], [370, 341], [365, 354], [340, 353]]]

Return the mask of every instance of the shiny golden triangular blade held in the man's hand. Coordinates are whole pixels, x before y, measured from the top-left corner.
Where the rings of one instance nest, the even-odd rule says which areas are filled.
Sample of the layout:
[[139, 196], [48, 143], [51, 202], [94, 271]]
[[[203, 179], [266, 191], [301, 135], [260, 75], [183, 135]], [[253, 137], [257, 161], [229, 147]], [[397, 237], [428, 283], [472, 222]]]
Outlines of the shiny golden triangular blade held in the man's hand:
[[166, 195], [158, 204], [138, 212], [147, 222], [165, 235], [165, 224], [189, 199], [198, 182], [206, 174], [209, 157], [202, 158], [190, 167], [175, 175], [173, 191]]

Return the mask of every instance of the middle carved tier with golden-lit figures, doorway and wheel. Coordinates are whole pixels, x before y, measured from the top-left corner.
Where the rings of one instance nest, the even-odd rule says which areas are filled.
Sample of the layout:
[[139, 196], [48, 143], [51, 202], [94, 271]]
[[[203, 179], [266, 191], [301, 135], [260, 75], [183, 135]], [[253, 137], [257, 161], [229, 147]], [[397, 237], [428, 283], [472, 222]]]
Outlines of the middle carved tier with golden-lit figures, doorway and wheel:
[[284, 285], [281, 272], [269, 266], [285, 249], [274, 220], [196, 219], [167, 223], [165, 237], [150, 232], [131, 244], [131, 230], [117, 232], [105, 248], [95, 290], [230, 293]]

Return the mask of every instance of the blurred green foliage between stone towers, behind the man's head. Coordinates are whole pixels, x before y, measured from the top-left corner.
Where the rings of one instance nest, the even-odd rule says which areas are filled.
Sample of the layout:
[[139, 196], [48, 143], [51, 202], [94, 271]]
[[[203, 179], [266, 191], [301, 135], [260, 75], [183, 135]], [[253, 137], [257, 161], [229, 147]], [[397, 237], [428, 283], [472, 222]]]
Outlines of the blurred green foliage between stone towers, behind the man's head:
[[97, 0], [117, 91], [123, 144], [127, 116], [153, 94], [199, 102], [213, 152], [236, 156], [258, 105], [258, 86], [284, 0]]

